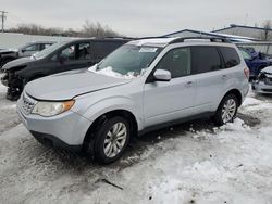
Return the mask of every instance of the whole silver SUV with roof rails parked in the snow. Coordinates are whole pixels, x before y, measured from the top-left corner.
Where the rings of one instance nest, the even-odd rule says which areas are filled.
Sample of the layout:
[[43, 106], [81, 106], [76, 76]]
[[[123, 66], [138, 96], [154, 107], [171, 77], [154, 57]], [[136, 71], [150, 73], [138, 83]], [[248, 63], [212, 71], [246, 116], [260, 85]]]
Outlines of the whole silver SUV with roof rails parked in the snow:
[[223, 39], [131, 41], [99, 64], [34, 80], [17, 113], [41, 143], [111, 163], [129, 138], [201, 116], [232, 122], [249, 71]]

